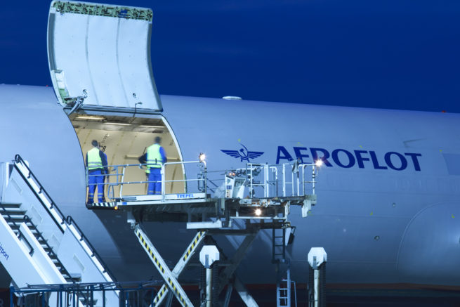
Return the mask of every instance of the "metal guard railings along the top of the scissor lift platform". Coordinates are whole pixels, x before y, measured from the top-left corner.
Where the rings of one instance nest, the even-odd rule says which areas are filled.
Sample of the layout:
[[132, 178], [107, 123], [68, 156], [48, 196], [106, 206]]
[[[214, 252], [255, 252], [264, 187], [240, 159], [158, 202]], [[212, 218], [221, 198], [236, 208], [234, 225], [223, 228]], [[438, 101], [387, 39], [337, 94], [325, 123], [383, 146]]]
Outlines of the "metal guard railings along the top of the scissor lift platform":
[[[180, 165], [182, 169], [185, 169], [186, 165], [197, 164], [198, 172], [197, 178], [186, 178], [185, 176], [180, 179], [171, 179], [166, 180], [170, 175], [167, 172], [168, 166]], [[315, 194], [315, 183], [318, 170], [320, 166], [313, 163], [301, 163], [298, 160], [292, 163], [284, 164], [260, 164], [260, 163], [247, 163], [246, 167], [243, 169], [235, 170], [223, 170], [223, 171], [208, 171], [206, 169], [205, 162], [202, 161], [190, 161], [190, 162], [167, 162], [162, 165], [161, 168], [161, 181], [126, 181], [126, 176], [129, 171], [132, 171], [134, 168], [144, 168], [147, 164], [118, 164], [107, 166], [112, 169], [110, 174], [105, 175], [93, 175], [88, 174], [88, 169], [86, 169], [87, 178], [91, 176], [105, 176], [109, 178], [107, 182], [104, 182], [103, 185], [107, 185], [107, 197], [110, 201], [117, 201], [122, 199], [124, 196], [134, 196], [126, 195], [124, 192], [124, 186], [126, 185], [140, 185], [140, 184], [149, 184], [149, 183], [161, 183], [162, 190], [161, 194], [162, 199], [166, 193], [166, 183], [183, 183], [184, 184], [184, 193], [195, 192], [191, 191], [192, 185], [191, 182], [197, 182], [196, 190], [199, 192], [216, 192], [219, 190], [219, 184], [222, 183], [224, 191], [220, 191], [221, 194], [225, 192], [225, 197], [235, 197], [228, 196], [228, 192], [225, 191], [225, 178], [239, 178], [239, 184], [244, 185], [244, 187], [249, 188], [249, 195], [244, 195], [244, 197], [254, 198], [254, 197], [301, 197], [305, 195], [314, 195]], [[209, 174], [217, 174], [218, 178], [213, 178], [212, 180], [208, 178]], [[281, 176], [280, 176], [281, 174]], [[223, 176], [224, 175], [224, 176]], [[114, 179], [111, 179], [114, 178]], [[87, 179], [87, 182], [89, 179]], [[233, 181], [235, 184], [235, 181]], [[96, 183], [88, 183], [89, 185], [96, 185]], [[212, 188], [209, 188], [211, 185]], [[114, 188], [118, 188], [117, 193]], [[280, 191], [280, 188], [282, 190]], [[117, 195], [116, 195], [117, 194]], [[221, 195], [217, 193], [216, 195]], [[136, 195], [145, 195], [143, 192], [138, 192]], [[221, 196], [217, 196], [221, 197]], [[238, 197], [242, 198], [242, 195]]]

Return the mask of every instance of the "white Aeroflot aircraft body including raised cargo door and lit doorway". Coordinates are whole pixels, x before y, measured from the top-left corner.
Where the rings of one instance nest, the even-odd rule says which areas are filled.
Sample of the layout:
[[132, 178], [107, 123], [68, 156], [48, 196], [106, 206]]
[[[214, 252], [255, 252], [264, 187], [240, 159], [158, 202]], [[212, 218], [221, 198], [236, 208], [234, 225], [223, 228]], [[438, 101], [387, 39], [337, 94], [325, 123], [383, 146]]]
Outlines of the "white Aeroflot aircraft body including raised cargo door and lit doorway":
[[[310, 248], [324, 247], [327, 282], [331, 284], [460, 284], [456, 269], [460, 266], [459, 115], [158, 96], [153, 79], [148, 79], [152, 78], [150, 53], [134, 57], [138, 62], [118, 65], [117, 73], [112, 73], [108, 62], [101, 60], [132, 59], [131, 51], [120, 55], [118, 45], [113, 46], [117, 52], [107, 55], [110, 39], [96, 44], [100, 39], [91, 36], [97, 35], [91, 27], [100, 29], [100, 24], [91, 16], [85, 17], [88, 22], [83, 23], [83, 34], [72, 33], [74, 46], [63, 44], [65, 35], [74, 29], [65, 27], [65, 22], [82, 24], [74, 19], [81, 16], [62, 8], [56, 13], [53, 4], [48, 54], [55, 91], [0, 86], [0, 162], [11, 162], [16, 154], [29, 162], [55, 203], [79, 223], [117, 280], [157, 275], [123, 211], [86, 209], [84, 156], [96, 139], [109, 164], [136, 164], [154, 137], [162, 136], [170, 161], [196, 160], [203, 152], [209, 171], [239, 169], [247, 162], [282, 164], [300, 158], [311, 163], [322, 159], [317, 205], [306, 218], [301, 217], [299, 208], [292, 209], [289, 217], [296, 226], [296, 238], [287, 256], [292, 279], [297, 282], [307, 280]], [[121, 32], [129, 32], [131, 26], [145, 26], [126, 22], [124, 29], [126, 20], [110, 18], [106, 19], [120, 22], [114, 37], [122, 37]], [[110, 32], [113, 27], [107, 20], [103, 25]], [[150, 51], [150, 27], [151, 20], [147, 20], [149, 34], [139, 31], [143, 51]], [[74, 51], [79, 39], [89, 41], [86, 50]], [[100, 48], [107, 52], [98, 51]], [[70, 51], [72, 57], [66, 57]], [[74, 64], [79, 60], [86, 65]], [[150, 81], [133, 83], [138, 71], [130, 65], [147, 67], [139, 73]], [[116, 79], [115, 85], [112, 79]], [[79, 96], [84, 103], [67, 116], [79, 103]], [[66, 105], [70, 100], [73, 105]], [[221, 180], [222, 174], [213, 176]], [[196, 178], [197, 169], [178, 167], [171, 177], [184, 175]], [[141, 169], [130, 176], [131, 181], [145, 180]], [[142, 189], [126, 188], [126, 193]], [[180, 185], [167, 189], [183, 192]], [[194, 230], [185, 229], [185, 223], [145, 226], [169, 264], [176, 263], [195, 235]], [[219, 242], [230, 249], [238, 243], [225, 237]], [[237, 270], [244, 282], [275, 284], [271, 244], [268, 232], [258, 235]]]

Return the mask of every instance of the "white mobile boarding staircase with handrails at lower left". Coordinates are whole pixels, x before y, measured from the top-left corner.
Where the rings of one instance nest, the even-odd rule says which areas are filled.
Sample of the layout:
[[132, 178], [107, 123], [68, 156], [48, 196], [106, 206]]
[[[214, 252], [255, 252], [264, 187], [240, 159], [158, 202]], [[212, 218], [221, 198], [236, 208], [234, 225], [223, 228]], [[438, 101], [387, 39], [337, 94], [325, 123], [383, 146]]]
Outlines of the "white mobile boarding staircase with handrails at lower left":
[[[91, 243], [72, 217], [65, 217], [59, 210], [27, 163], [16, 155], [13, 164], [0, 166], [0, 262], [11, 276], [12, 284], [22, 288], [113, 282]], [[49, 294], [50, 306], [54, 306], [56, 295]], [[119, 303], [117, 291], [95, 293], [90, 305], [84, 294], [77, 296], [77, 306], [82, 303], [92, 307], [118, 306]]]

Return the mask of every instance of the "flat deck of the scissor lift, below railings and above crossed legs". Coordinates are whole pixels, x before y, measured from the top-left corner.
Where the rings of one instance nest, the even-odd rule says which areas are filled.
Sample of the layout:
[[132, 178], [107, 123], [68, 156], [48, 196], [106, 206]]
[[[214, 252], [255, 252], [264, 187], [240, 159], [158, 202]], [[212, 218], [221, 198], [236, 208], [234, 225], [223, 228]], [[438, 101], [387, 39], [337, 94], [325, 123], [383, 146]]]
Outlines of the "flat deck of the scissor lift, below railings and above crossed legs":
[[[291, 205], [305, 211], [316, 203], [316, 195], [272, 198], [213, 198], [205, 193], [140, 195], [115, 202], [88, 204], [89, 209], [129, 211], [136, 221], [188, 221], [223, 218], [228, 225], [232, 219], [285, 220]], [[142, 216], [142, 218], [141, 218]]]

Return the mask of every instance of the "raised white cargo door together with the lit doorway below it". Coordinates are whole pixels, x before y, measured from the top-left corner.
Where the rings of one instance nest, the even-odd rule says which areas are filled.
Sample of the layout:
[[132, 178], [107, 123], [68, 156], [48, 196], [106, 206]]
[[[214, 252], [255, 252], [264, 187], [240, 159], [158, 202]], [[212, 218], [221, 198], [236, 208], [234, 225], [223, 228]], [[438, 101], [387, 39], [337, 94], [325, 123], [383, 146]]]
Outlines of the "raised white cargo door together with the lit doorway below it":
[[[153, 77], [152, 16], [150, 8], [51, 2], [47, 31], [51, 80], [77, 132], [83, 157], [96, 140], [109, 165], [139, 164], [138, 157], [160, 136], [168, 162], [182, 161], [176, 137], [161, 115]], [[185, 178], [180, 164], [168, 165], [165, 171], [166, 181]], [[114, 176], [108, 178], [109, 183], [115, 181]], [[123, 181], [146, 181], [145, 169], [130, 166]], [[124, 184], [123, 195], [145, 195], [146, 185]], [[120, 186], [111, 188], [113, 195], [119, 195]], [[166, 183], [164, 188], [168, 194], [183, 193], [185, 183]], [[107, 190], [106, 185], [106, 197]]]

